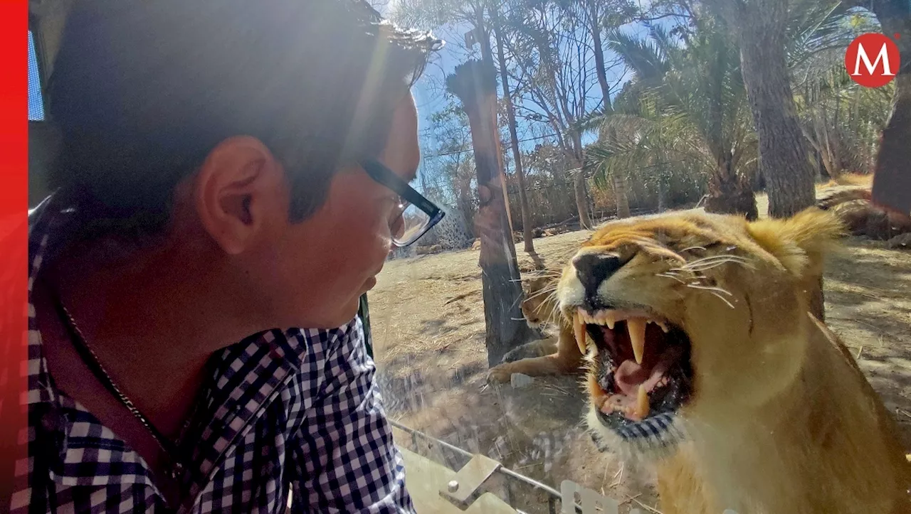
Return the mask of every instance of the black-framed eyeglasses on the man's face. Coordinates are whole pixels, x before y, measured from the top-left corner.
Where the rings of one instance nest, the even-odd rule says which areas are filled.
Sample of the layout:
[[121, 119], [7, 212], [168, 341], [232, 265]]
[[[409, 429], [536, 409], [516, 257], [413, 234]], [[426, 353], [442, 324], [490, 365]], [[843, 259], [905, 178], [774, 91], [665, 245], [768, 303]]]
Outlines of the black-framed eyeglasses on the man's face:
[[399, 197], [399, 205], [389, 217], [389, 228], [396, 247], [407, 247], [414, 243], [445, 216], [440, 207], [436, 207], [382, 163], [366, 160], [361, 166], [378, 184], [392, 189]]

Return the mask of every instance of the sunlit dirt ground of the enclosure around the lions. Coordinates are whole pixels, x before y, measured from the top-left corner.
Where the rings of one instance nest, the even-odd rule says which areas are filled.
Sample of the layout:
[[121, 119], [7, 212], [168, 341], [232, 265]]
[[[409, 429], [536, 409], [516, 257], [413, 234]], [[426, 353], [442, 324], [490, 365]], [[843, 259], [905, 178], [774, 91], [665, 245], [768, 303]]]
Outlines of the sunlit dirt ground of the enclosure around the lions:
[[[764, 206], [761, 212], [764, 212]], [[535, 240], [559, 264], [590, 232]], [[854, 349], [911, 448], [911, 252], [845, 239], [825, 280], [826, 317]], [[519, 250], [521, 248], [519, 247]], [[520, 267], [531, 259], [519, 251]], [[486, 386], [481, 269], [472, 250], [393, 260], [370, 293], [379, 380], [391, 418], [559, 489], [572, 479], [651, 511], [648, 470], [599, 452], [581, 427], [585, 398], [576, 378], [536, 378], [525, 388]], [[459, 469], [466, 459], [396, 432], [396, 441]], [[528, 513], [548, 512], [548, 497], [492, 481], [491, 490]]]

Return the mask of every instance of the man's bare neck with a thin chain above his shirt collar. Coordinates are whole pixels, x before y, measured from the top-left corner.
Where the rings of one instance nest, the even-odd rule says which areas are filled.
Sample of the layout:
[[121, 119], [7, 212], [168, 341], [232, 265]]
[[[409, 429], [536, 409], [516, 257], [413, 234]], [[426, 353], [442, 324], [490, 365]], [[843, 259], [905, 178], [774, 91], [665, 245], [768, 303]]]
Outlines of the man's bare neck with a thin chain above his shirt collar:
[[[102, 367], [159, 430], [175, 435], [193, 407], [205, 364], [249, 336], [234, 310], [213, 295], [211, 274], [180, 252], [159, 250], [116, 266], [88, 253], [57, 263], [58, 295]], [[241, 323], [239, 323], [241, 321]]]

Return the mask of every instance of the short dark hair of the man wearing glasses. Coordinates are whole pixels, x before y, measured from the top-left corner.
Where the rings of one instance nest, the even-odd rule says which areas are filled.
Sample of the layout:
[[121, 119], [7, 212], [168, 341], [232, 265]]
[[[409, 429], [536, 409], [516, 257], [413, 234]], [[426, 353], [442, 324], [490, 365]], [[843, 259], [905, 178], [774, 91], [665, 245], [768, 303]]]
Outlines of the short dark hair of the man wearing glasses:
[[382, 150], [441, 44], [363, 0], [77, 0], [47, 88], [50, 186], [89, 232], [154, 233], [214, 146], [255, 136], [300, 220], [340, 166]]

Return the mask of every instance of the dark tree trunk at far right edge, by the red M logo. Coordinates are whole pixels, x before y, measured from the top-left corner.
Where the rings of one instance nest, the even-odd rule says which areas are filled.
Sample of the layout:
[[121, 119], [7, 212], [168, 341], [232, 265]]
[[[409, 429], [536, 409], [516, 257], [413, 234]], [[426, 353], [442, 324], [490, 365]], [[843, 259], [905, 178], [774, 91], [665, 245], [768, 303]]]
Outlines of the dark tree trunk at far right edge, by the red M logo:
[[[898, 45], [901, 67], [896, 74], [896, 94], [892, 113], [883, 130], [873, 198], [876, 203], [911, 212], [911, 5], [907, 0], [875, 0], [870, 2], [883, 33]], [[865, 4], [866, 6], [866, 4]], [[900, 35], [897, 39], [895, 35]]]

